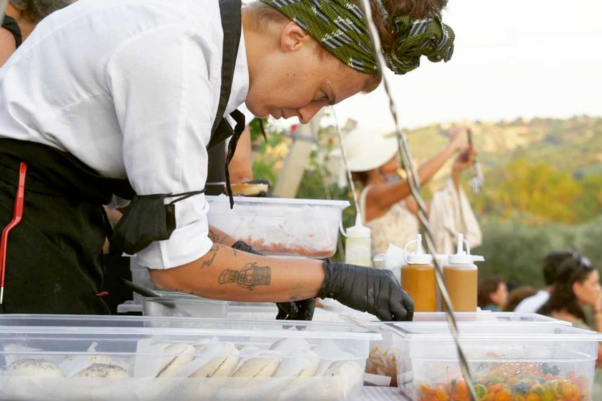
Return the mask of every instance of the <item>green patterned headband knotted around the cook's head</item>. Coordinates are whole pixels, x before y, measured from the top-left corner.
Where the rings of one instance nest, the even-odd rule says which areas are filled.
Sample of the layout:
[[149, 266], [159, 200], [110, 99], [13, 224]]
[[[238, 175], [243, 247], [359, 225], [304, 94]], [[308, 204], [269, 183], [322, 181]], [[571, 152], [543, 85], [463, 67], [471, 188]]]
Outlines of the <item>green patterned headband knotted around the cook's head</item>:
[[[352, 69], [378, 72], [364, 13], [350, 0], [261, 0], [305, 29], [311, 37]], [[377, 0], [378, 1], [378, 0]], [[381, 7], [386, 19], [386, 10]], [[393, 19], [395, 45], [385, 54], [387, 67], [405, 74], [420, 66], [420, 57], [452, 58], [454, 33], [438, 18]]]

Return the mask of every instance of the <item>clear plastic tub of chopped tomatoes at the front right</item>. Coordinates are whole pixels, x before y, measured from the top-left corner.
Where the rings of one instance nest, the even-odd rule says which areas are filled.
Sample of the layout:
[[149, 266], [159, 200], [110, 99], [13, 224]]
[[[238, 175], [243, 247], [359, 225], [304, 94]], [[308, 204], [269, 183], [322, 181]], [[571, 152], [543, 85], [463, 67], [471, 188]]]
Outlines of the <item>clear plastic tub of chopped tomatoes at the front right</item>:
[[[443, 399], [461, 399], [465, 385], [447, 327], [393, 323], [387, 328], [393, 331], [403, 393], [416, 400], [438, 393]], [[494, 393], [493, 399], [593, 401], [602, 334], [561, 324], [515, 322], [461, 322], [459, 331], [478, 393]]]

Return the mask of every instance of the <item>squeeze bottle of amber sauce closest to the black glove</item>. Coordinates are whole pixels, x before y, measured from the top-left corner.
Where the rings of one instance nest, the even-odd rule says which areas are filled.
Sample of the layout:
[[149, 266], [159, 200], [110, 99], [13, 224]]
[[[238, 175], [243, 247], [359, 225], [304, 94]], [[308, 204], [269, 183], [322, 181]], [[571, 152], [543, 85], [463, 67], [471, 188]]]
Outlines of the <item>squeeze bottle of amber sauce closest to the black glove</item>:
[[[408, 246], [416, 243], [415, 253], [408, 253]], [[414, 299], [414, 310], [417, 312], [435, 312], [437, 310], [437, 293], [435, 283], [435, 266], [433, 257], [423, 253], [422, 236], [406, 243], [403, 248], [406, 265], [402, 266], [403, 289]]]

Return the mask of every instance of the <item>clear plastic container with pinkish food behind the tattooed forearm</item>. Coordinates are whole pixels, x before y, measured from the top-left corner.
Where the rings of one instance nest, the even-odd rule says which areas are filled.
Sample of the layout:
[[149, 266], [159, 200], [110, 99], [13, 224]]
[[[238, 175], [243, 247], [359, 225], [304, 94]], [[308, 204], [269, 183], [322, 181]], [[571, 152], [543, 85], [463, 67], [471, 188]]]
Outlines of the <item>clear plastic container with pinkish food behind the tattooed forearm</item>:
[[348, 201], [206, 196], [209, 224], [256, 251], [281, 256], [326, 258], [337, 251]]

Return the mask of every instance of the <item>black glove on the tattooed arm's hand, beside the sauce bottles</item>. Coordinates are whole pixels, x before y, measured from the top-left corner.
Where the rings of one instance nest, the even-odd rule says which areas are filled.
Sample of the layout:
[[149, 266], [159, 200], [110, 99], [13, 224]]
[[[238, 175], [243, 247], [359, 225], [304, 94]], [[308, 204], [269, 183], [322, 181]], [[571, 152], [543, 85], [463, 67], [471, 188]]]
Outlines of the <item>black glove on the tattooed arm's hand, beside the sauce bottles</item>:
[[333, 298], [380, 320], [412, 320], [414, 301], [393, 272], [324, 260], [324, 283], [318, 298]]

